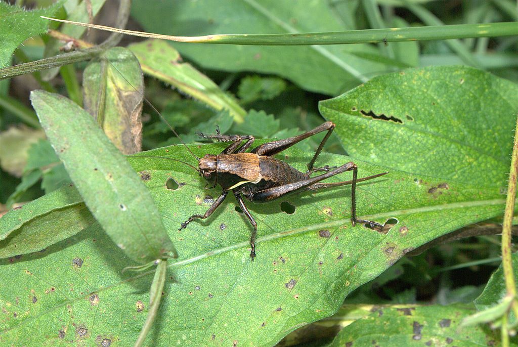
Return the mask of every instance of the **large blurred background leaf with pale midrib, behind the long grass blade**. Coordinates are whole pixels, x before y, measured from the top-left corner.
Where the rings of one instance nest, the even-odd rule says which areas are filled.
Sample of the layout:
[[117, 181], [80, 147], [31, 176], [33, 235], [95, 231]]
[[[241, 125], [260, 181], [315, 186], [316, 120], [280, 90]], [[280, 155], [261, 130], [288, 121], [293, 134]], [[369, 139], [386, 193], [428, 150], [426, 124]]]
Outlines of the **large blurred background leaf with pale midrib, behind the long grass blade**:
[[[148, 32], [198, 36], [226, 34], [277, 34], [336, 32], [344, 27], [333, 6], [322, 1], [133, 3], [132, 16]], [[282, 76], [314, 92], [337, 95], [367, 81], [384, 64], [355, 53], [376, 53], [371, 45], [306, 47], [213, 46], [174, 44], [180, 53], [205, 68], [223, 71], [257, 71]], [[163, 60], [163, 58], [161, 58]]]

